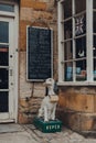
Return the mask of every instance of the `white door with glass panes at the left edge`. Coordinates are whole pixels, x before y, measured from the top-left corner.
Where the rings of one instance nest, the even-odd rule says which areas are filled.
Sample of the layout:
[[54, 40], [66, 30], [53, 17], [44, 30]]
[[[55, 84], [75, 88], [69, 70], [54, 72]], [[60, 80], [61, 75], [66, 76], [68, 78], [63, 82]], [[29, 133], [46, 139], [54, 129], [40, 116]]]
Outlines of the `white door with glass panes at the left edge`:
[[13, 119], [13, 19], [0, 18], [0, 120]]

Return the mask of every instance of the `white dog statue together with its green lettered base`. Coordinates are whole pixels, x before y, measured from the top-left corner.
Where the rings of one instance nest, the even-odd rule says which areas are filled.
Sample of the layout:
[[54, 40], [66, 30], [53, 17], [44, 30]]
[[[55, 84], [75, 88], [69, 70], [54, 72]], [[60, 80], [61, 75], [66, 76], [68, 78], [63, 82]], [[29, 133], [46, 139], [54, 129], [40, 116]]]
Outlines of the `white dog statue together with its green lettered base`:
[[55, 119], [58, 96], [54, 91], [54, 79], [47, 78], [44, 86], [46, 95], [41, 102], [38, 117], [34, 118], [34, 125], [44, 133], [61, 132], [62, 121]]

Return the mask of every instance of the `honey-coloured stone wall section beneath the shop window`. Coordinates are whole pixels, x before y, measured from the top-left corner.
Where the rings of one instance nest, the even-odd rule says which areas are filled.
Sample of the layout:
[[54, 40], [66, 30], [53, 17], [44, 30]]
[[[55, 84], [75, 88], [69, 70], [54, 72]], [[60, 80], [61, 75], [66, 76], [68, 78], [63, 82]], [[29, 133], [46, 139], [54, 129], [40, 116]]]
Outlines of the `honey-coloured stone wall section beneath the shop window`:
[[64, 125], [81, 133], [96, 131], [95, 86], [60, 87], [57, 117]]

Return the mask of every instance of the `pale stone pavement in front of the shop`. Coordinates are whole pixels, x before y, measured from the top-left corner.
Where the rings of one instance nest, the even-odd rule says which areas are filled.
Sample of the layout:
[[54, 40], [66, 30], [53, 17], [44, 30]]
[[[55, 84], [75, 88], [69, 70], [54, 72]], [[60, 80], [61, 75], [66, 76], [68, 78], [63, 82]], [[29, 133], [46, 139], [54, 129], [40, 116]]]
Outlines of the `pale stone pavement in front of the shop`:
[[61, 132], [43, 133], [33, 124], [0, 124], [0, 143], [96, 143], [65, 127]]

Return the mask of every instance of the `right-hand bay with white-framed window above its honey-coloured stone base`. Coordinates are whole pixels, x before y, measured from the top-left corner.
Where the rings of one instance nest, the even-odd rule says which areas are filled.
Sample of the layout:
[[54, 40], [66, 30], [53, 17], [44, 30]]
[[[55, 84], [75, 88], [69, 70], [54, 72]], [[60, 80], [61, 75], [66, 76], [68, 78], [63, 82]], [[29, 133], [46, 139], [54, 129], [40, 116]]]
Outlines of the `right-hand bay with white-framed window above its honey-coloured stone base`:
[[58, 86], [64, 122], [93, 131], [96, 119], [96, 1], [60, 0]]

